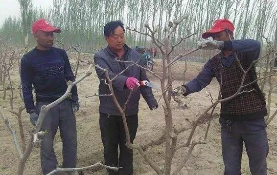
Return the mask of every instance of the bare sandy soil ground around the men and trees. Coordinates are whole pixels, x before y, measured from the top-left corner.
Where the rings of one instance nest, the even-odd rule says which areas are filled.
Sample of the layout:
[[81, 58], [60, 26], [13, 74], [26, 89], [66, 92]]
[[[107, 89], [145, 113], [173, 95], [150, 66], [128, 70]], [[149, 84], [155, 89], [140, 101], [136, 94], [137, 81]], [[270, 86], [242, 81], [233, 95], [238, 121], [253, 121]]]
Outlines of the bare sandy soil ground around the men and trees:
[[[197, 73], [202, 69], [203, 64], [196, 62], [188, 62], [188, 71], [186, 74], [186, 81], [194, 78]], [[87, 65], [81, 64], [78, 76], [85, 73]], [[174, 76], [176, 80], [173, 82], [173, 87], [179, 86], [183, 83], [183, 71], [185, 69], [184, 62], [180, 61], [174, 65]], [[15, 69], [16, 70], [16, 69]], [[154, 71], [161, 74], [161, 60], [156, 60]], [[19, 74], [17, 71], [11, 75], [16, 84], [19, 84]], [[157, 78], [149, 75], [152, 82], [159, 84]], [[78, 84], [78, 94], [80, 98], [80, 110], [76, 114], [77, 119], [77, 136], [78, 136], [78, 159], [77, 166], [89, 166], [98, 161], [103, 161], [103, 146], [100, 137], [99, 129], [99, 115], [98, 115], [98, 97], [86, 98], [86, 95], [94, 94], [97, 92], [99, 80], [95, 73], [89, 78]], [[211, 104], [205, 91], [209, 91], [212, 96], [217, 97], [219, 90], [218, 82], [214, 79], [211, 84], [199, 93], [191, 94], [184, 100], [187, 103], [188, 109], [178, 110], [177, 104], [173, 101], [173, 115], [174, 126], [177, 130], [189, 128], [197, 115], [202, 114], [203, 111]], [[153, 90], [157, 99], [161, 97], [161, 91]], [[17, 109], [22, 104], [19, 97], [19, 92], [15, 92], [17, 98], [15, 99], [14, 108]], [[2, 93], [0, 92], [0, 97]], [[8, 98], [8, 96], [7, 96]], [[277, 94], [273, 94], [274, 103], [277, 102]], [[274, 104], [272, 103], [272, 104]], [[164, 143], [157, 141], [164, 131], [164, 115], [162, 110], [163, 101], [161, 100], [160, 107], [157, 110], [150, 111], [143, 98], [139, 104], [139, 126], [138, 133], [135, 139], [136, 143], [147, 147], [147, 155], [155, 161], [156, 164], [163, 165], [164, 157]], [[9, 109], [9, 99], [0, 100], [3, 112], [10, 120], [11, 126], [19, 133], [16, 118], [11, 115], [7, 110]], [[215, 113], [219, 114], [220, 107], [218, 106]], [[272, 113], [276, 110], [276, 106], [272, 105]], [[198, 140], [205, 135], [207, 124], [200, 125], [197, 128], [194, 139]], [[26, 140], [28, 140], [28, 130], [32, 128], [29, 122], [29, 117], [23, 112], [23, 127]], [[275, 119], [267, 128], [270, 151], [268, 154], [268, 174], [277, 175], [277, 119]], [[189, 134], [188, 131], [181, 132], [178, 136], [178, 143], [181, 144], [186, 141]], [[19, 137], [18, 137], [19, 138]], [[158, 140], [159, 141], [159, 140]], [[152, 146], [149, 146], [151, 145]], [[54, 142], [54, 149], [58, 157], [59, 164], [62, 164], [62, 142], [57, 133]], [[185, 156], [187, 149], [179, 150], [173, 161], [173, 169], [178, 166], [180, 160]], [[0, 175], [16, 175], [18, 155], [13, 145], [13, 140], [8, 132], [4, 122], [0, 119]], [[144, 159], [138, 151], [134, 151], [134, 171], [135, 175], [155, 175], [150, 166], [144, 162]], [[220, 125], [218, 119], [211, 122], [210, 131], [208, 134], [208, 143], [206, 145], [198, 145], [195, 147], [193, 154], [187, 162], [185, 168], [180, 172], [180, 175], [222, 175], [224, 165], [221, 155], [221, 140], [220, 140]], [[35, 148], [31, 153], [25, 167], [25, 175], [42, 175], [40, 165], [40, 149]], [[242, 163], [243, 175], [251, 175], [248, 166], [248, 158], [246, 152], [243, 154]], [[106, 175], [106, 170], [100, 170], [95, 173], [88, 173], [86, 175]]]

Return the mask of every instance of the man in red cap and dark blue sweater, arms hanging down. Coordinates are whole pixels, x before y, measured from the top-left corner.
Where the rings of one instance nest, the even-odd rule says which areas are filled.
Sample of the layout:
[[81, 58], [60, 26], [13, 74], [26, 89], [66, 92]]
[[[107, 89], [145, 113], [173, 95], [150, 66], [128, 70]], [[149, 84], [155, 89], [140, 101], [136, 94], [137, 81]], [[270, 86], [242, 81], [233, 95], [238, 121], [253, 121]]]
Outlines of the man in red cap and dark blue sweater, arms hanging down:
[[[52, 27], [45, 19], [32, 25], [37, 46], [21, 59], [22, 92], [31, 123], [36, 126], [43, 105], [47, 105], [67, 90], [67, 81], [74, 81], [69, 58], [65, 50], [53, 46], [54, 34], [61, 30]], [[32, 85], [35, 87], [34, 105]], [[47, 131], [41, 143], [41, 166], [46, 175], [57, 167], [53, 139], [57, 129], [63, 141], [63, 168], [75, 168], [77, 155], [76, 120], [73, 113], [79, 109], [77, 87], [72, 87], [72, 97], [51, 108], [43, 121], [41, 130]], [[76, 172], [70, 175], [75, 175]]]

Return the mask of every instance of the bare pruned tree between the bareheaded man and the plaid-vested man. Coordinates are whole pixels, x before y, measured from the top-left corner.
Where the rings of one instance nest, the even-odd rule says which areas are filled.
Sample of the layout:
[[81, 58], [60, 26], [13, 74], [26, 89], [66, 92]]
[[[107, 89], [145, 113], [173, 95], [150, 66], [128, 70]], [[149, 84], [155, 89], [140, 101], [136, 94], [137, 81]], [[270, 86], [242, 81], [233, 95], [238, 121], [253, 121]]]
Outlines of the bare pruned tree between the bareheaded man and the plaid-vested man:
[[[146, 35], [146, 36], [150, 37], [151, 40], [154, 42], [154, 44], [160, 49], [160, 52], [162, 54], [162, 68], [163, 68], [162, 76], [157, 75], [157, 74], [155, 74], [152, 71], [149, 71], [147, 69], [146, 70], [148, 72], [150, 72], [152, 75], [154, 75], [156, 78], [160, 79], [161, 89], [162, 89], [162, 97], [163, 97], [163, 100], [164, 100], [164, 103], [165, 103], [164, 105], [162, 105], [163, 109], [164, 109], [164, 116], [165, 116], [165, 132], [164, 132], [165, 133], [165, 163], [164, 163], [164, 167], [162, 168], [162, 174], [164, 174], [164, 175], [170, 175], [171, 174], [172, 159], [174, 157], [175, 152], [178, 149], [181, 149], [183, 147], [188, 147], [189, 148], [189, 150], [187, 152], [187, 155], [184, 156], [184, 159], [180, 162], [180, 164], [178, 165], [178, 168], [174, 171], [173, 175], [177, 175], [181, 171], [181, 169], [185, 166], [185, 163], [189, 159], [189, 156], [191, 155], [191, 153], [192, 153], [192, 151], [193, 151], [193, 149], [196, 145], [206, 144], [205, 140], [207, 139], [208, 129], [209, 129], [210, 123], [208, 123], [208, 127], [207, 127], [206, 134], [205, 134], [205, 137], [204, 137], [203, 141], [196, 141], [196, 140], [193, 141], [192, 138], [193, 138], [194, 132], [196, 130], [196, 127], [200, 123], [211, 120], [214, 109], [215, 109], [215, 107], [217, 106], [218, 103], [230, 100], [230, 99], [232, 99], [232, 98], [234, 98], [234, 97], [236, 97], [236, 96], [238, 96], [242, 93], [247, 93], [243, 89], [245, 87], [255, 83], [257, 80], [270, 78], [272, 76], [276, 76], [276, 74], [270, 73], [270, 74], [265, 75], [262, 78], [257, 78], [255, 80], [253, 80], [251, 83], [245, 84], [245, 78], [246, 78], [247, 74], [249, 73], [250, 70], [253, 69], [254, 64], [257, 61], [259, 61], [261, 58], [258, 59], [258, 60], [253, 61], [250, 64], [250, 66], [248, 67], [248, 69], [244, 70], [242, 68], [241, 64], [240, 64], [239, 59], [236, 57], [236, 61], [238, 61], [239, 65], [240, 65], [240, 68], [241, 68], [241, 71], [243, 72], [243, 78], [241, 80], [240, 87], [238, 88], [236, 93], [233, 94], [231, 97], [221, 98], [221, 91], [219, 91], [218, 98], [215, 101], [212, 101], [212, 105], [209, 106], [208, 109], [205, 110], [204, 114], [202, 114], [194, 122], [192, 130], [190, 132], [190, 135], [187, 138], [187, 141], [184, 144], [177, 145], [178, 134], [175, 133], [175, 128], [173, 127], [173, 116], [172, 116], [172, 108], [171, 108], [171, 103], [170, 103], [171, 96], [172, 96], [172, 81], [173, 81], [172, 65], [174, 65], [174, 63], [176, 61], [178, 61], [180, 58], [183, 58], [183, 57], [185, 57], [185, 56], [187, 56], [187, 55], [189, 55], [189, 54], [191, 54], [191, 53], [193, 53], [193, 52], [200, 49], [200, 48], [194, 49], [194, 50], [191, 50], [191, 51], [189, 51], [185, 54], [180, 54], [180, 55], [176, 56], [175, 58], [170, 58], [170, 54], [175, 49], [175, 47], [177, 45], [179, 45], [183, 40], [190, 37], [190, 35], [189, 35], [187, 37], [180, 38], [179, 41], [177, 41], [176, 43], [171, 42], [172, 41], [171, 40], [172, 39], [171, 38], [172, 34], [176, 31], [176, 29], [177, 29], [178, 25], [180, 24], [180, 22], [182, 22], [186, 18], [188, 18], [188, 15], [184, 15], [181, 19], [179, 19], [178, 21], [175, 21], [175, 22], [169, 21], [168, 26], [163, 30], [164, 31], [164, 33], [163, 33], [164, 39], [163, 40], [160, 40], [160, 39], [156, 38], [156, 35], [157, 35], [158, 31], [151, 29], [148, 24], [145, 24], [145, 27], [148, 29], [147, 33], [142, 33], [142, 32], [139, 32], [136, 29], [128, 28], [131, 31], [135, 31], [139, 34]], [[133, 62], [133, 64], [135, 64], [135, 63]], [[167, 83], [165, 82], [166, 80], [167, 80]], [[221, 87], [221, 85], [220, 85], [220, 87]], [[210, 110], [211, 110], [211, 112], [208, 113]], [[127, 135], [127, 133], [126, 133], [126, 135]], [[149, 163], [149, 161], [147, 161], [147, 162]], [[161, 174], [160, 171], [157, 171], [157, 167], [155, 167], [154, 170], [156, 171], [157, 174]]]

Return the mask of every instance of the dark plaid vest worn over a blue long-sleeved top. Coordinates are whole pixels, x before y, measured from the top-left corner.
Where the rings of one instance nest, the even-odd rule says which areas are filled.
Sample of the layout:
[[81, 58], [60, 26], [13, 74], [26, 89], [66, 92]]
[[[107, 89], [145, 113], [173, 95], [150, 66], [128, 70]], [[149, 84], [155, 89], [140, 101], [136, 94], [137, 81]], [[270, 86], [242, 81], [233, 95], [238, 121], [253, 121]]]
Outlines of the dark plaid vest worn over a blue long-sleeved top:
[[[232, 54], [235, 53], [233, 52]], [[230, 67], [222, 64], [222, 57], [224, 55], [221, 52], [210, 59], [213, 73], [218, 82], [221, 83], [221, 99], [231, 97], [240, 87], [243, 71], [239, 66], [239, 62], [245, 71], [251, 64], [251, 61], [243, 53], [237, 53], [239, 62], [234, 59]], [[243, 85], [253, 82], [256, 78], [255, 67], [252, 66], [245, 77]], [[265, 98], [257, 82], [246, 86], [240, 92], [242, 93], [238, 96], [221, 103], [221, 117], [231, 120], [249, 120], [267, 115]]]

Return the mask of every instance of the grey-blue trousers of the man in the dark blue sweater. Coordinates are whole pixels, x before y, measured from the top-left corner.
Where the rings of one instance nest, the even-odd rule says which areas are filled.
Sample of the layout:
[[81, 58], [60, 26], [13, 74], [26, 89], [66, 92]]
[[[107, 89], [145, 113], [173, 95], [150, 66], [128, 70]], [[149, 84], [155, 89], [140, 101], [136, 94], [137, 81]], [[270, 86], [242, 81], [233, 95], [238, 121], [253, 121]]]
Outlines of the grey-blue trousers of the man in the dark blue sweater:
[[[37, 111], [41, 110], [46, 102], [37, 102]], [[63, 141], [63, 168], [75, 168], [77, 156], [76, 119], [72, 111], [72, 102], [65, 100], [50, 109], [43, 121], [41, 131], [47, 131], [41, 143], [41, 166], [43, 174], [56, 169], [58, 161], [53, 149], [53, 139], [58, 127]]]

